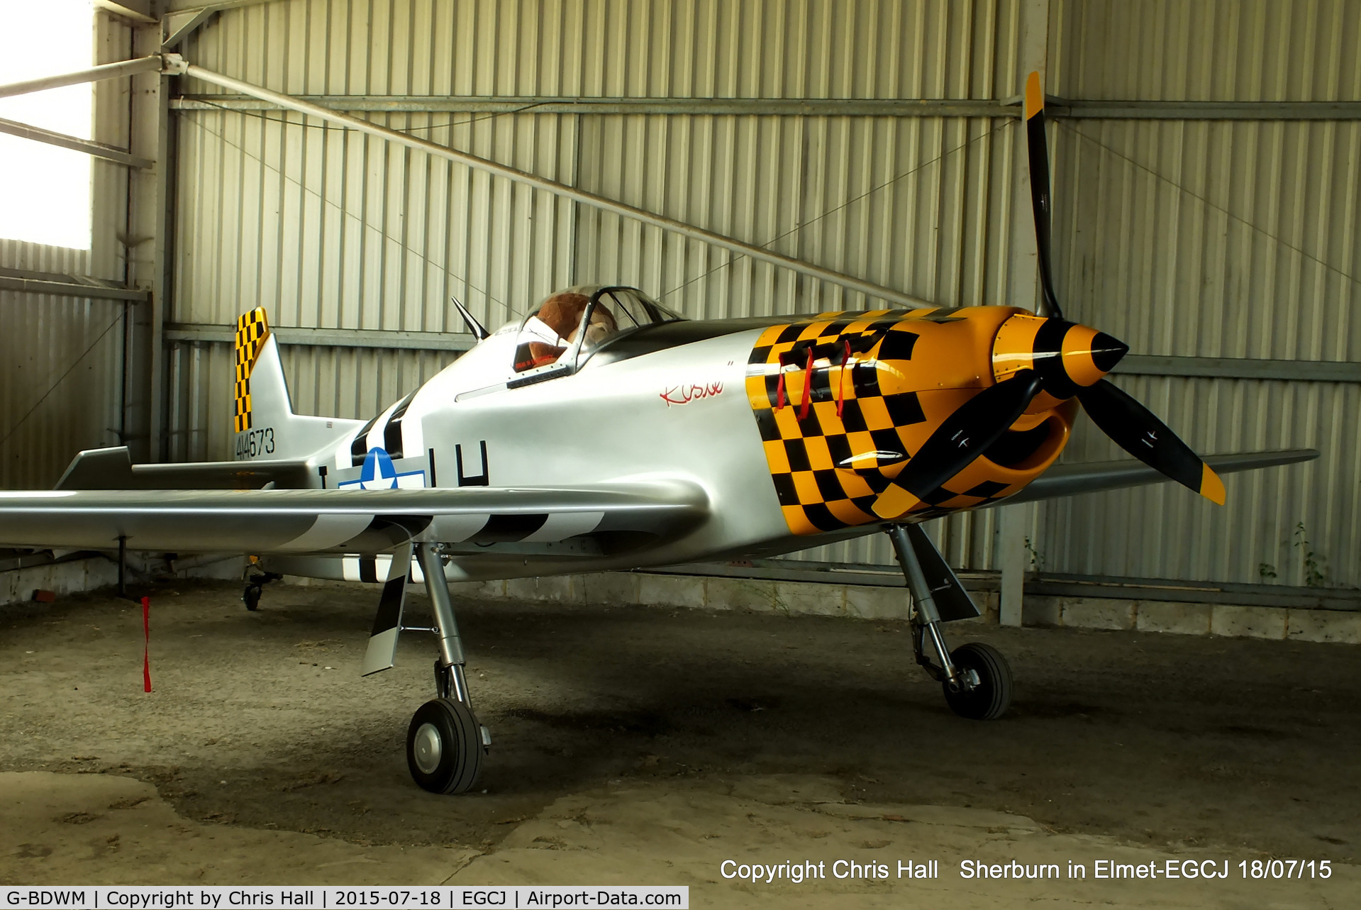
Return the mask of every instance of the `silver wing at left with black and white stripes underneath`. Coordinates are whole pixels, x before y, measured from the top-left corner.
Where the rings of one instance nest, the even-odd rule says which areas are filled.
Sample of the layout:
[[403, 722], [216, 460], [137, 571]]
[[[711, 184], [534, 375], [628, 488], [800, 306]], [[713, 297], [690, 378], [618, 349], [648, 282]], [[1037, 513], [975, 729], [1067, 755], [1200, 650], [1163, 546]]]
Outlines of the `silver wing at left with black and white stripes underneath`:
[[[606, 551], [709, 514], [680, 480], [434, 490], [42, 490], [0, 492], [0, 545], [163, 552], [378, 552], [407, 540], [554, 543]], [[640, 537], [645, 536], [645, 537]]]

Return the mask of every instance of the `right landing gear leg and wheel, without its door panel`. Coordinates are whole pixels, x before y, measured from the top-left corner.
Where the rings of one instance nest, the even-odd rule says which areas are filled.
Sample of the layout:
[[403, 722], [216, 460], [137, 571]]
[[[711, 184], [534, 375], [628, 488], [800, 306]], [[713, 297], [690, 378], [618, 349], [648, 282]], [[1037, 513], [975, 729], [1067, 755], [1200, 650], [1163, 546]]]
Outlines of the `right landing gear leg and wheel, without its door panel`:
[[[1002, 652], [983, 642], [969, 642], [951, 652], [945, 643], [932, 588], [927, 584], [921, 560], [917, 559], [908, 537], [908, 529], [902, 525], [890, 525], [889, 539], [906, 577], [908, 590], [912, 592], [915, 607], [912, 652], [917, 664], [931, 679], [940, 683], [946, 703], [960, 717], [976, 721], [1002, 717], [1011, 705], [1011, 668]], [[954, 582], [958, 586], [958, 581]], [[939, 664], [927, 653], [927, 641], [931, 642], [931, 650], [935, 652]]]

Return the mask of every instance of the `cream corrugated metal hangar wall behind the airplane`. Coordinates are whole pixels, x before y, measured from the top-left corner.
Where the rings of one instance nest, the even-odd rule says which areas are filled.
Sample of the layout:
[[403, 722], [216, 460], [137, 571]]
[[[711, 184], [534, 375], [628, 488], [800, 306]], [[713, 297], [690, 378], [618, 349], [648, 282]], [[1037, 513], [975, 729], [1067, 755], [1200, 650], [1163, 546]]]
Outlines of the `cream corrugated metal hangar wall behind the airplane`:
[[[189, 7], [203, 3], [169, 4]], [[1034, 302], [1017, 97], [1026, 71], [1045, 69], [1066, 314], [1131, 344], [1117, 381], [1199, 452], [1323, 456], [1230, 479], [1224, 509], [1170, 484], [1018, 507], [1036, 560], [1102, 577], [1259, 582], [1274, 571], [1301, 585], [1302, 525], [1324, 582], [1361, 584], [1356, 3], [210, 10], [176, 48], [191, 63], [942, 306]], [[212, 86], [169, 84], [169, 286], [163, 313], [152, 310], [167, 346], [165, 414], [147, 422], [170, 460], [230, 456], [230, 325], [256, 305], [290, 341], [295, 407], [336, 416], [370, 416], [457, 356], [470, 339], [450, 295], [493, 326], [555, 287], [593, 282], [638, 284], [691, 317], [875, 305]], [[97, 98], [127, 91], [117, 86]], [[98, 112], [116, 133], [114, 113]], [[97, 174], [97, 200], [101, 186], [117, 196], [114, 171]], [[0, 254], [19, 268], [50, 256]], [[120, 254], [50, 271], [120, 279]], [[35, 301], [0, 305], [15, 326], [46, 320], [50, 344], [37, 324], [33, 333], [54, 365], [71, 359], [61, 344], [83, 350], [76, 340], [116, 314]], [[27, 344], [18, 335], [5, 344]], [[106, 347], [84, 360], [97, 394], [63, 386], [67, 399], [15, 434], [7, 483], [50, 483], [75, 448], [110, 443], [131, 405], [99, 404], [128, 385], [121, 341]], [[150, 385], [154, 394], [157, 377]], [[7, 426], [31, 397], [11, 388]], [[1079, 423], [1064, 457], [1119, 453]], [[954, 564], [995, 564], [996, 511], [946, 524]], [[806, 558], [891, 562], [876, 537]]]

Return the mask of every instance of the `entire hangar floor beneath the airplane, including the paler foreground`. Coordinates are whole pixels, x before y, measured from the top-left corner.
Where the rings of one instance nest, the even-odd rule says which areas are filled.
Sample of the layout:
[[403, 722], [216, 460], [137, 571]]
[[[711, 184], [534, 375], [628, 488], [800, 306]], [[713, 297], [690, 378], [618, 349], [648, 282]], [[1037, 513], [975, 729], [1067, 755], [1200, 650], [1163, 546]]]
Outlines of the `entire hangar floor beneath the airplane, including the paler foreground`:
[[[1010, 658], [1007, 717], [955, 718], [905, 624], [460, 604], [495, 739], [434, 797], [403, 741], [433, 642], [361, 679], [358, 585], [151, 590], [0, 608], [0, 883], [689, 884], [693, 906], [1354, 906], [1354, 646], [955, 627]], [[414, 596], [411, 620], [425, 615]], [[1330, 860], [1327, 880], [1239, 861]], [[720, 864], [935, 858], [934, 881], [750, 884]], [[977, 881], [962, 860], [1086, 864]], [[1096, 881], [1097, 858], [1228, 861], [1221, 881]]]

